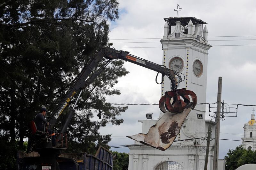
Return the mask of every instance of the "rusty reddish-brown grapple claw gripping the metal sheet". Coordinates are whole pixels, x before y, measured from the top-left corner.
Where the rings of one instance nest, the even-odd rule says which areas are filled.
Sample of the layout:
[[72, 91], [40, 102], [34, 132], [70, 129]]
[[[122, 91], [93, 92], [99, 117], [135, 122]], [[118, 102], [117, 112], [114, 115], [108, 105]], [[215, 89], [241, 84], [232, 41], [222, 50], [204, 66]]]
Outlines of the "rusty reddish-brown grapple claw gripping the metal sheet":
[[[197, 102], [196, 94], [190, 90], [186, 90], [185, 88], [165, 92], [164, 96], [159, 100], [159, 108], [164, 113], [166, 110], [171, 113], [182, 112], [187, 106], [187, 103], [190, 103], [189, 96], [193, 102], [192, 109], [194, 109]], [[180, 97], [182, 97], [183, 100], [181, 100]], [[173, 100], [172, 103], [171, 100]]]

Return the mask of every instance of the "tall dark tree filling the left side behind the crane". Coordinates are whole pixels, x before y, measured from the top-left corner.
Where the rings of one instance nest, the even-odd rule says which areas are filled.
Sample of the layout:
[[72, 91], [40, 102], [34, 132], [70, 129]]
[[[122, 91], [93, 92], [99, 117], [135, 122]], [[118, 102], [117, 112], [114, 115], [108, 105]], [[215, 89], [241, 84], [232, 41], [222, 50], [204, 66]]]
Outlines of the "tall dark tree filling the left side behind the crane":
[[[0, 141], [7, 141], [4, 146], [23, 148], [27, 123], [40, 107], [54, 109], [90, 56], [107, 45], [108, 21], [116, 18], [116, 0], [0, 2]], [[126, 107], [103, 104], [106, 95], [120, 94], [113, 86], [128, 73], [122, 65], [123, 61], [112, 63], [84, 90], [69, 129], [68, 152], [95, 152], [110, 140], [110, 135], [99, 134], [99, 128], [123, 122], [116, 116]], [[101, 121], [92, 121], [99, 109]]]

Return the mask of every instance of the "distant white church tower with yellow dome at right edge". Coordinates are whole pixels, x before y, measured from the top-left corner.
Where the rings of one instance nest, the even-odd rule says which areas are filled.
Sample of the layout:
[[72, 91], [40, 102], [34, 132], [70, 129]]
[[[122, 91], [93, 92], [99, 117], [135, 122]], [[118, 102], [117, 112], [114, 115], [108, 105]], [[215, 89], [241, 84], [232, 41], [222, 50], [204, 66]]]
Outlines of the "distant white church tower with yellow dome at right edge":
[[244, 124], [244, 137], [241, 139], [245, 149], [256, 150], [256, 121], [254, 113], [252, 113], [251, 120]]

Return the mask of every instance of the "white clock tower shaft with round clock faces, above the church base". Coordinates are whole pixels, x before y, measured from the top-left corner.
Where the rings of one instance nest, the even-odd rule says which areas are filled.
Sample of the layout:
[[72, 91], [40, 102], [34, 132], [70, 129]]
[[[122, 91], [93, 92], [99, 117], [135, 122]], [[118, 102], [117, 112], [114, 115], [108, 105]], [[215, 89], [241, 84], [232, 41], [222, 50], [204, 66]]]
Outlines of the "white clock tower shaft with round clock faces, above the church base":
[[[178, 89], [186, 88], [196, 93], [197, 103], [205, 103], [208, 44], [207, 23], [195, 17], [164, 18], [164, 37], [161, 40], [163, 65], [182, 73], [184, 81]], [[202, 29], [204, 26], [204, 29]], [[178, 78], [177, 78], [178, 79]], [[164, 78], [161, 97], [171, 90], [171, 81]], [[163, 113], [160, 113], [160, 117]], [[205, 119], [205, 105], [196, 105], [188, 119]]]

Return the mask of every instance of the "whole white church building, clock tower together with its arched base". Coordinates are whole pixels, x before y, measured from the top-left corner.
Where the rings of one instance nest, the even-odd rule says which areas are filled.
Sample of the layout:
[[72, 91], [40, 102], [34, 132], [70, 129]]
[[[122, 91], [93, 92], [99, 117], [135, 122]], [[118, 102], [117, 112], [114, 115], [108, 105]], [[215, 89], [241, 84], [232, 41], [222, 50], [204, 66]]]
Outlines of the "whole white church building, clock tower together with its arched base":
[[[197, 103], [206, 103], [207, 59], [208, 50], [212, 47], [207, 41], [207, 23], [195, 17], [169, 17], [164, 20], [164, 36], [161, 40], [162, 64], [184, 75], [185, 79], [178, 84], [178, 89], [191, 90], [197, 95]], [[171, 82], [164, 78], [161, 97], [164, 92], [170, 90]], [[159, 117], [162, 115], [163, 113], [160, 113]], [[148, 129], [156, 124], [157, 120], [139, 122], [142, 123], [142, 133], [148, 133]], [[174, 143], [166, 151], [147, 145], [128, 146], [129, 170], [203, 170], [210, 124], [212, 139], [215, 126], [211, 120], [205, 120], [205, 105], [196, 105], [183, 123]], [[214, 140], [210, 142], [207, 170], [212, 170], [213, 145]], [[221, 164], [223, 162], [219, 162], [219, 165]]]

